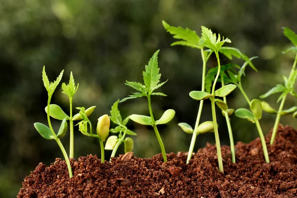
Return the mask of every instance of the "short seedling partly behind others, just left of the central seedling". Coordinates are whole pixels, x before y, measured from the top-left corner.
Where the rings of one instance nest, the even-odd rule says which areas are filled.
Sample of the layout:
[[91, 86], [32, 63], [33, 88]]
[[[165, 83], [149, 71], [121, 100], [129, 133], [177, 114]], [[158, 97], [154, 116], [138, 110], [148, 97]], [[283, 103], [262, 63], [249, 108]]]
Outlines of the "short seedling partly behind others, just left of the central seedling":
[[110, 159], [111, 159], [111, 157], [115, 156], [117, 149], [119, 148], [119, 146], [122, 143], [124, 143], [125, 153], [131, 152], [134, 147], [133, 140], [131, 138], [125, 139], [125, 136], [126, 135], [137, 136], [137, 134], [135, 132], [129, 130], [126, 127], [126, 124], [129, 121], [129, 116], [126, 117], [124, 120], [122, 119], [122, 116], [118, 109], [118, 103], [119, 103], [119, 100], [117, 100], [116, 102], [113, 103], [113, 105], [111, 106], [110, 116], [109, 116], [110, 120], [114, 124], [118, 125], [114, 129], [110, 129], [111, 133], [118, 133], [118, 136], [110, 136], [107, 139], [106, 144], [105, 144], [105, 150], [112, 150]]

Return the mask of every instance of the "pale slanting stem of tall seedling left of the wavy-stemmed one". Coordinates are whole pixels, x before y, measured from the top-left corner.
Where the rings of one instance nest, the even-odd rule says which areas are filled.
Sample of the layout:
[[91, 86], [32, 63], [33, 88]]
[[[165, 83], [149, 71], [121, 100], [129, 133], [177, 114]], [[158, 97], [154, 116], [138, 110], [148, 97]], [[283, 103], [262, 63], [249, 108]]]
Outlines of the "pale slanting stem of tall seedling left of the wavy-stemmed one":
[[[209, 54], [210, 53], [211, 52], [209, 52]], [[202, 61], [203, 61], [203, 67], [202, 67], [202, 83], [201, 83], [202, 84], [202, 87], [201, 87], [201, 91], [204, 92], [204, 89], [205, 89], [206, 61], [205, 61], [205, 57], [204, 57], [203, 48], [201, 48], [201, 56], [202, 56]], [[194, 146], [195, 146], [195, 142], [196, 142], [196, 137], [198, 135], [197, 129], [198, 129], [199, 122], [200, 122], [200, 117], [201, 117], [201, 112], [202, 112], [202, 107], [203, 107], [203, 101], [204, 100], [200, 100], [199, 109], [198, 109], [198, 115], [197, 115], [197, 119], [196, 119], [196, 123], [195, 123], [195, 128], [194, 128], [194, 132], [193, 132], [193, 136], [192, 136], [192, 140], [191, 140], [191, 145], [190, 145], [189, 152], [188, 152], [187, 164], [189, 163], [190, 159], [192, 158], [192, 153], [193, 153], [193, 150], [194, 150]]]

